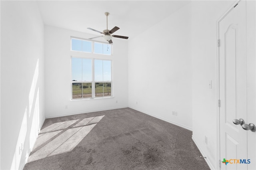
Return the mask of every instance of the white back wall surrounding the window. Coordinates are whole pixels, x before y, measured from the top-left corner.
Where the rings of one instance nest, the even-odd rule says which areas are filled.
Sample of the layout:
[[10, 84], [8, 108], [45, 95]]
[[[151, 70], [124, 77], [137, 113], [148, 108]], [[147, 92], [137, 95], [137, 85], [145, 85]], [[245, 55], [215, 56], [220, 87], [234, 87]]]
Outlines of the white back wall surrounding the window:
[[[113, 38], [114, 55], [97, 55], [113, 62], [113, 98], [71, 100], [70, 57], [92, 54], [70, 51], [70, 36], [91, 38], [95, 35], [45, 26], [45, 97], [46, 117], [58, 117], [128, 107], [128, 47], [126, 40]], [[117, 101], [117, 103], [116, 103]], [[66, 105], [68, 109], [66, 109]]]

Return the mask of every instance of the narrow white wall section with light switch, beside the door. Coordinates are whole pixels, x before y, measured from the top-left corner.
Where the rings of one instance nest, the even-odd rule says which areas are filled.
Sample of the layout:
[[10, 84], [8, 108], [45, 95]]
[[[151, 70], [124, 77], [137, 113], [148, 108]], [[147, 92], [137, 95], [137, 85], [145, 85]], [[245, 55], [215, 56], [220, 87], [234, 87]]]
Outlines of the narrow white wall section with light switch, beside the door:
[[217, 20], [233, 3], [192, 1], [193, 139], [214, 169], [218, 168]]

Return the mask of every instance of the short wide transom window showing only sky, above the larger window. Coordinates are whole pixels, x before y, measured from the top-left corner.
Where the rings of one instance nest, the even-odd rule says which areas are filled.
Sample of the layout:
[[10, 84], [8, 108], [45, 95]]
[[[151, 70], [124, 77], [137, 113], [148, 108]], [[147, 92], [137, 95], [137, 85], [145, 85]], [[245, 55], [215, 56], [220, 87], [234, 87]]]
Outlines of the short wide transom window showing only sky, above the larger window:
[[111, 55], [112, 54], [111, 49], [112, 49], [112, 45], [108, 43], [92, 42], [89, 40], [71, 38], [72, 51]]

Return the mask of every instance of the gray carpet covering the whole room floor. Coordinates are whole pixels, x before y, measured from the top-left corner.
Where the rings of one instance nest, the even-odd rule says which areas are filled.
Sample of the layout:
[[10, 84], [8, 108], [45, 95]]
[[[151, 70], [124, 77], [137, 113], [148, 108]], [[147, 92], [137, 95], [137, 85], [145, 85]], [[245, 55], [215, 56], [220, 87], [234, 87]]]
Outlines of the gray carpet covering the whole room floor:
[[208, 170], [192, 132], [124, 108], [46, 119], [24, 170]]

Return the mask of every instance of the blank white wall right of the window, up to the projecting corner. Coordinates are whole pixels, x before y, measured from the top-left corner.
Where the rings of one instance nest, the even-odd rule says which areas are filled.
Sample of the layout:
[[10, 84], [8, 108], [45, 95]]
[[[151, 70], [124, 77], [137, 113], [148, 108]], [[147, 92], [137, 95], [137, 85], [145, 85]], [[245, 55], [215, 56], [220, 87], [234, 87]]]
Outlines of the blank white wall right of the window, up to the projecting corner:
[[129, 107], [192, 130], [190, 53], [191, 4], [131, 39]]

